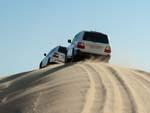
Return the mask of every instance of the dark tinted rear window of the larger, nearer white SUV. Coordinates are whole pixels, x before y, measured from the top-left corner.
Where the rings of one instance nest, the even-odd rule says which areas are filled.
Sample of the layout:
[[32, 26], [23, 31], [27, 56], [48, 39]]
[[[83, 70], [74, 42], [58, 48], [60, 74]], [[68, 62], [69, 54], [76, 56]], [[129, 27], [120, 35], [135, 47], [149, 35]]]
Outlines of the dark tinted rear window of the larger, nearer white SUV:
[[108, 37], [97, 32], [85, 32], [83, 40], [108, 44]]

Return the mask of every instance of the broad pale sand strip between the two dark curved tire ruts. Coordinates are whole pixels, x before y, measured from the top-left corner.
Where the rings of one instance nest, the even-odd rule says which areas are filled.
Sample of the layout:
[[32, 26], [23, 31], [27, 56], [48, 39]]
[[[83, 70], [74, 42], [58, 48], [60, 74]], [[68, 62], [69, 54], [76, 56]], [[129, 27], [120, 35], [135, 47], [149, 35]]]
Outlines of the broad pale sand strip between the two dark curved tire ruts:
[[[129, 101], [125, 90], [119, 84], [118, 80], [111, 75], [107, 67], [103, 64], [92, 64], [95, 70], [98, 70], [107, 90], [107, 98], [104, 106], [104, 113], [130, 113]], [[100, 97], [99, 97], [100, 98]], [[126, 99], [125, 99], [126, 98]]]

